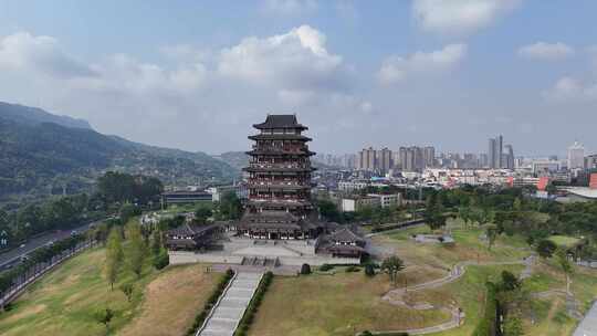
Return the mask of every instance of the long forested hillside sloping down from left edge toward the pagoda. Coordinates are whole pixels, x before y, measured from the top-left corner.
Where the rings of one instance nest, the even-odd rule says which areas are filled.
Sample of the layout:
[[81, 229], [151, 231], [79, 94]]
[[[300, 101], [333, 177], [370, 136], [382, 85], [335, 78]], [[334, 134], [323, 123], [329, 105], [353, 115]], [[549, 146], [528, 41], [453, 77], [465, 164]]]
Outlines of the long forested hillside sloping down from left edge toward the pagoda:
[[69, 127], [88, 124], [52, 117], [42, 109], [9, 104], [0, 107], [3, 202], [87, 190], [95, 177], [108, 169], [155, 176], [166, 185], [181, 186], [228, 181], [237, 174], [228, 164], [205, 153], [147, 146], [103, 135], [91, 127]]

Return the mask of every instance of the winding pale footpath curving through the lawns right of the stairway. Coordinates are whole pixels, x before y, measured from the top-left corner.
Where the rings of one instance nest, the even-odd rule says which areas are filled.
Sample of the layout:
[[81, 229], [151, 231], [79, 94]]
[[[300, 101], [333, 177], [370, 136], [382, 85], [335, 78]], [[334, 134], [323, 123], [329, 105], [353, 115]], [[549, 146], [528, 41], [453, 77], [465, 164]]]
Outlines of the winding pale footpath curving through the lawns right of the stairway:
[[[413, 286], [407, 287], [407, 288], [396, 288], [387, 292], [381, 297], [383, 301], [387, 301], [390, 304], [397, 304], [397, 305], [407, 305], [401, 298], [407, 292], [417, 292], [422, 290], [429, 290], [429, 288], [437, 288], [440, 286], [443, 286], [446, 284], [452, 283], [464, 274], [467, 271], [467, 266], [469, 265], [479, 265], [479, 266], [489, 266], [489, 265], [525, 265], [524, 270], [521, 272], [521, 279], [528, 277], [532, 273], [532, 265], [535, 261], [535, 255], [532, 254], [528, 258], [525, 258], [523, 260], [517, 261], [504, 261], [504, 262], [481, 262], [478, 263], [476, 261], [463, 261], [460, 263], [457, 263], [448, 273], [448, 275], [431, 280], [425, 283], [416, 284]], [[421, 303], [421, 305], [426, 305], [426, 303]], [[417, 307], [412, 307], [417, 308]], [[409, 335], [425, 335], [425, 334], [432, 334], [432, 333], [439, 333], [452, 328], [457, 328], [460, 326], [462, 315], [461, 309], [459, 307], [439, 307], [439, 309], [446, 309], [451, 312], [451, 318], [448, 322], [444, 322], [439, 325], [425, 327], [425, 328], [412, 328], [412, 329], [402, 329], [402, 330], [377, 330], [371, 332], [371, 334], [390, 334], [390, 333], [408, 333]], [[357, 334], [359, 335], [359, 334]]]

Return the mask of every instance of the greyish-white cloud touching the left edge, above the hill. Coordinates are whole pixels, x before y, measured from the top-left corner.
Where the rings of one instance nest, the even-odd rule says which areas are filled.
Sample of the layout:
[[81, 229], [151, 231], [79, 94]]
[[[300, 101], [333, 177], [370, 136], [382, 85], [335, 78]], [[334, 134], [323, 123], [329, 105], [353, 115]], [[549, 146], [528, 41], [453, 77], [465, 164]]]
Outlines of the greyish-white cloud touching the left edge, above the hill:
[[38, 71], [62, 78], [94, 75], [86, 65], [63, 53], [54, 38], [28, 32], [0, 39], [0, 69]]

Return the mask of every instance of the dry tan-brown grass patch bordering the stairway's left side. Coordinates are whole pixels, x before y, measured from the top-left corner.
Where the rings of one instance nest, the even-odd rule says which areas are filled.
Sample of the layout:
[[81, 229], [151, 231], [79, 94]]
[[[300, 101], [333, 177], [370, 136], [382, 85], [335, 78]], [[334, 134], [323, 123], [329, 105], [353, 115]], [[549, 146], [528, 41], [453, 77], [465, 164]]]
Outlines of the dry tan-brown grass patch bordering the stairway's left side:
[[203, 265], [174, 267], [149, 283], [142, 313], [121, 335], [181, 335], [211, 294], [218, 273], [203, 273]]

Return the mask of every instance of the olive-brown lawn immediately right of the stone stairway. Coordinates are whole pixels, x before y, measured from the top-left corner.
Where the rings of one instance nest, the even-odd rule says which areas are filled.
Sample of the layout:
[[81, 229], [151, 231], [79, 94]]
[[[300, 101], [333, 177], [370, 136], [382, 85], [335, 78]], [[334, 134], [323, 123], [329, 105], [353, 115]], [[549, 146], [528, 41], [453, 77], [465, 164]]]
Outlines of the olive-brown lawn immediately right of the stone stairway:
[[389, 288], [386, 275], [369, 279], [363, 272], [275, 277], [250, 335], [348, 336], [355, 330], [422, 327], [450, 318], [442, 311], [383, 302]]

